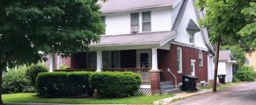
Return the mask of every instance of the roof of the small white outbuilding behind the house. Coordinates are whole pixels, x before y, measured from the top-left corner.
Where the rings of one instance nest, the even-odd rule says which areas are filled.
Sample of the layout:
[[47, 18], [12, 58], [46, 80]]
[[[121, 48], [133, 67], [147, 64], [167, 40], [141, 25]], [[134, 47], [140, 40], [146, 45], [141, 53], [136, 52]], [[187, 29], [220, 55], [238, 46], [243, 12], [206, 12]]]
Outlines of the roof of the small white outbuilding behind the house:
[[232, 52], [230, 50], [220, 51], [219, 61], [229, 61], [229, 60], [234, 60]]

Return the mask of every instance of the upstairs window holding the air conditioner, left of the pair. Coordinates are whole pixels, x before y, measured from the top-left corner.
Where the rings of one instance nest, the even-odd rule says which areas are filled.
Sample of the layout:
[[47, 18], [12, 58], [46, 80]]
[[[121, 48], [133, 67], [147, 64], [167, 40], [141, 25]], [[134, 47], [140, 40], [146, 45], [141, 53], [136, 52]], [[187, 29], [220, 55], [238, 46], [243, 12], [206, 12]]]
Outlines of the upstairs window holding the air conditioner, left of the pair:
[[139, 12], [131, 13], [131, 31], [139, 32]]

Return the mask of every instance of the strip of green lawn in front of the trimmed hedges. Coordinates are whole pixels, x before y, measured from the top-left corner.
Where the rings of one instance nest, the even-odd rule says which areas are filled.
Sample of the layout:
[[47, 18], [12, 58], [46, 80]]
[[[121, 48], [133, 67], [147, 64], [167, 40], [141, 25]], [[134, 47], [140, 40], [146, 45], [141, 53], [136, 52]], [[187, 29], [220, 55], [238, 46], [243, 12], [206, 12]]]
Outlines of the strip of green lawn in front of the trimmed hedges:
[[3, 95], [4, 102], [40, 102], [67, 104], [153, 104], [154, 101], [173, 95], [139, 95], [120, 99], [95, 98], [40, 98], [34, 93], [20, 93]]

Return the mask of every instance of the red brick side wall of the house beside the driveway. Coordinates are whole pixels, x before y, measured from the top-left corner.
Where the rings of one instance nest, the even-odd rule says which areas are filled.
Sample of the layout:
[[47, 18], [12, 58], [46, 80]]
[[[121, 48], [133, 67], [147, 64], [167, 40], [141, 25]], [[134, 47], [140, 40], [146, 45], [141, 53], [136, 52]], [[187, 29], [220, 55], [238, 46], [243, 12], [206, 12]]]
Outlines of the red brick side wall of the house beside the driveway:
[[182, 71], [177, 73], [177, 46], [171, 45], [170, 51], [158, 50], [158, 65], [162, 69], [161, 81], [173, 80], [173, 76], [167, 72], [169, 68], [177, 76], [177, 82], [182, 82], [182, 74], [191, 74], [191, 59], [196, 60], [195, 75], [199, 81], [207, 81], [207, 52], [203, 51], [203, 66], [199, 66], [199, 51], [190, 47], [182, 47]]

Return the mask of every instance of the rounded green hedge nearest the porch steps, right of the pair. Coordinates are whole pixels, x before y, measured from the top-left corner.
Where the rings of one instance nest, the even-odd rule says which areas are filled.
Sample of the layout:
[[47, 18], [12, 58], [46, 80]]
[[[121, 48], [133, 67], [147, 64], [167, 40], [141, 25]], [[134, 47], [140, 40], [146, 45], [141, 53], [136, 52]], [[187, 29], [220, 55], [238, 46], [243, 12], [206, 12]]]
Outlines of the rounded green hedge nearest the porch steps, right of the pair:
[[94, 73], [91, 82], [101, 97], [108, 98], [135, 95], [141, 84], [139, 74], [118, 72]]

